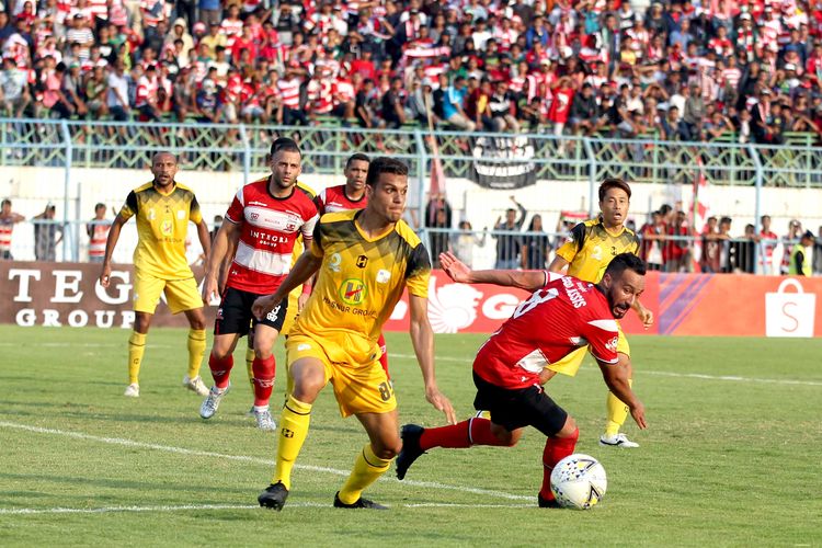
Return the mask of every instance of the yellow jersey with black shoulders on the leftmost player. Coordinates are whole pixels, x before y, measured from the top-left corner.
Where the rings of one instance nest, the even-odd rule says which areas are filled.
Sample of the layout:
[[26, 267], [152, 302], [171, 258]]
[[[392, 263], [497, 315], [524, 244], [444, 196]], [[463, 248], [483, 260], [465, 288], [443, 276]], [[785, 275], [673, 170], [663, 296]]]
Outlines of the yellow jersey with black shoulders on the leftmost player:
[[135, 269], [161, 279], [193, 276], [185, 258], [185, 236], [189, 221], [199, 222], [203, 216], [191, 189], [175, 182], [169, 194], [162, 194], [148, 182], [128, 194], [119, 215], [125, 220], [137, 216]]

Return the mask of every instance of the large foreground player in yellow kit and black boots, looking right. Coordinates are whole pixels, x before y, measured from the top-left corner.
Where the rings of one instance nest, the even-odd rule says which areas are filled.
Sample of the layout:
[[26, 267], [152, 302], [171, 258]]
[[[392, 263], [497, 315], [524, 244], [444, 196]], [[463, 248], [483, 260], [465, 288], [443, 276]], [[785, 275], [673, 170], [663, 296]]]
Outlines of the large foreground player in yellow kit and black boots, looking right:
[[277, 292], [254, 302], [260, 318], [317, 273], [313, 293], [286, 342], [293, 390], [281, 416], [276, 470], [258, 498], [261, 506], [283, 509], [311, 407], [331, 381], [341, 414], [356, 415], [370, 439], [334, 496], [334, 506], [385, 509], [363, 499], [362, 492], [388, 470], [401, 448], [397, 400], [379, 365], [377, 340], [404, 288], [425, 397], [450, 424], [456, 422], [450, 401], [436, 386], [434, 334], [427, 317], [431, 262], [425, 247], [401, 220], [407, 192], [408, 167], [393, 158], [375, 159], [366, 179], [365, 209], [324, 215], [310, 249]]

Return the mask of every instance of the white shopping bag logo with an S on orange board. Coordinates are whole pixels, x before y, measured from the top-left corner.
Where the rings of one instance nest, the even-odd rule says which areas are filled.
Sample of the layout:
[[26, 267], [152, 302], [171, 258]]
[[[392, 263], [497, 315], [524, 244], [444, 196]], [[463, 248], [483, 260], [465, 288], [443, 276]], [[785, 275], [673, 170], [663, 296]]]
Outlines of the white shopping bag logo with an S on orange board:
[[[786, 289], [794, 287], [796, 293]], [[787, 278], [776, 293], [765, 295], [765, 334], [767, 336], [813, 336], [817, 296], [804, 293], [797, 278]]]

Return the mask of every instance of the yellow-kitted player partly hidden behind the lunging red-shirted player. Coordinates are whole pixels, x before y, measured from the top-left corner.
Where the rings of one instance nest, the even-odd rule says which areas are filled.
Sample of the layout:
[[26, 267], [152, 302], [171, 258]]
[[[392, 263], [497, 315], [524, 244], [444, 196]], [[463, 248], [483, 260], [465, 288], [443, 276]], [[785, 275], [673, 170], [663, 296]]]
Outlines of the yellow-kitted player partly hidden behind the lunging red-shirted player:
[[[562, 272], [566, 266], [568, 274], [591, 283], [598, 283], [610, 260], [619, 253], [639, 253], [639, 240], [632, 230], [625, 226], [630, 206], [631, 190], [621, 179], [606, 179], [600, 185], [600, 216], [580, 222], [571, 230], [563, 246], [557, 250], [557, 256], [548, 270]], [[644, 308], [639, 299], [633, 302], [633, 310], [646, 326], [653, 323], [653, 313]], [[587, 347], [584, 346], [563, 359], [548, 366], [545, 379], [557, 373], [574, 376], [582, 364]], [[628, 383], [632, 379], [630, 346], [628, 340], [619, 330], [617, 346], [619, 366], [628, 370]], [[628, 407], [616, 396], [608, 392], [606, 402], [608, 419], [605, 433], [600, 437], [600, 444], [610, 447], [639, 447], [619, 432], [628, 416]]]

